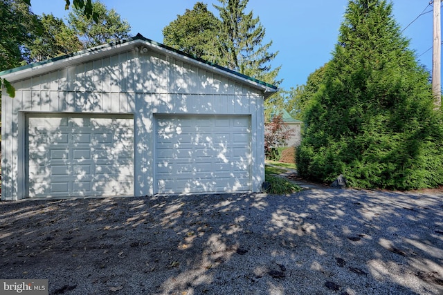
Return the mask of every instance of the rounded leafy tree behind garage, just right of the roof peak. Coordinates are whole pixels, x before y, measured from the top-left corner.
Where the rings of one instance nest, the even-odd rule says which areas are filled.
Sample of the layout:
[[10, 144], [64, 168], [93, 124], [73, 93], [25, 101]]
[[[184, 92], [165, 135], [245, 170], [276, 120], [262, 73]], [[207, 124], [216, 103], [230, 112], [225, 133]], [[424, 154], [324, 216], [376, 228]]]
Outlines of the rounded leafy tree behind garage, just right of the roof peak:
[[220, 21], [206, 4], [197, 2], [192, 10], [163, 28], [163, 44], [210, 62], [219, 62], [217, 32]]

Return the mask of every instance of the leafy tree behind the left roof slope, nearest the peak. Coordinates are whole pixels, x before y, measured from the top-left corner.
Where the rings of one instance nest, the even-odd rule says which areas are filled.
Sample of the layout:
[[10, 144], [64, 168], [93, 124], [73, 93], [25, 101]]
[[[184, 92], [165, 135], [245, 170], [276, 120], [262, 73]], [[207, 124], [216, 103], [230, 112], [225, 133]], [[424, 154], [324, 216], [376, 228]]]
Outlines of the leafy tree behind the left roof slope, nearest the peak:
[[93, 13], [97, 19], [93, 20], [84, 15], [82, 7], [69, 12], [69, 28], [77, 32], [84, 48], [118, 41], [129, 37], [131, 26], [126, 20], [120, 19], [120, 15], [114, 10], [107, 10], [100, 1], [92, 3]]

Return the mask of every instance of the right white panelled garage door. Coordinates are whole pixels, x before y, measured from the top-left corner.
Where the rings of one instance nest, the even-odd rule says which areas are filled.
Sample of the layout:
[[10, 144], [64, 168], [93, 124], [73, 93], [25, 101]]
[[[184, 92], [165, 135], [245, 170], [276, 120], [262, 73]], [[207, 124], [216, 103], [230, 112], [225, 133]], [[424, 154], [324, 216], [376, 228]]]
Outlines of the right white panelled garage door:
[[155, 192], [251, 190], [250, 116], [156, 116]]

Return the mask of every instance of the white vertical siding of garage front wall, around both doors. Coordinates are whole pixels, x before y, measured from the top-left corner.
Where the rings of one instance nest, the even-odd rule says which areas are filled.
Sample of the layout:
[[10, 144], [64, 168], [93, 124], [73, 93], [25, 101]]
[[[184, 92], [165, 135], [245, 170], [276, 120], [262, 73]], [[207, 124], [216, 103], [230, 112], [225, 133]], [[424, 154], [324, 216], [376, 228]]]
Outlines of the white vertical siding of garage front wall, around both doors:
[[[66, 63], [68, 64], [68, 63]], [[163, 53], [135, 50], [37, 75], [13, 84], [2, 99], [2, 196], [23, 198], [17, 184], [24, 158], [26, 112], [133, 113], [136, 196], [153, 193], [153, 114], [251, 115], [253, 190], [264, 181], [263, 95], [228, 76]], [[20, 115], [21, 114], [21, 115]], [[19, 146], [21, 143], [21, 146]], [[21, 159], [24, 161], [24, 159]]]

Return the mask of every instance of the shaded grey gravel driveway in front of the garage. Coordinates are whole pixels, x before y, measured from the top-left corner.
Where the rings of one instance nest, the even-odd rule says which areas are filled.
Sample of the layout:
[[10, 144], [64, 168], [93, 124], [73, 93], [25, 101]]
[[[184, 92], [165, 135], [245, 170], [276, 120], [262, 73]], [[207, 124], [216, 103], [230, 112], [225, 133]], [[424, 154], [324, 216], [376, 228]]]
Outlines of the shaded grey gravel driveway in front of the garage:
[[0, 251], [49, 294], [443, 294], [443, 193], [0, 202]]

